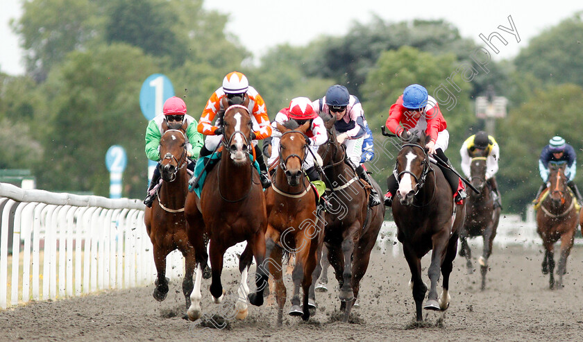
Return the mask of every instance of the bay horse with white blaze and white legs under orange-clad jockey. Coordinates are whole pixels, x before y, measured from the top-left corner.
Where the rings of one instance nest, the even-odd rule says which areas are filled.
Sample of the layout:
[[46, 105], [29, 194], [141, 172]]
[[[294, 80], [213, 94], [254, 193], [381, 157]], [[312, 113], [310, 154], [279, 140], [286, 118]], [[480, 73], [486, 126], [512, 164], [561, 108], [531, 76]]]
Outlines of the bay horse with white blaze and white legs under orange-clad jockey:
[[[253, 151], [253, 130], [251, 117], [244, 105], [231, 105], [227, 108], [223, 116], [223, 130], [221, 160], [208, 172], [201, 198], [194, 191], [189, 192], [186, 198], [186, 227], [189, 241], [196, 253], [197, 267], [188, 309], [190, 320], [201, 317], [201, 273], [209, 257], [203, 237], [205, 232], [209, 238], [212, 268], [210, 293], [214, 302], [223, 300], [223, 255], [235, 243], [247, 241], [239, 258], [241, 284], [235, 304], [238, 319], [244, 319], [248, 314], [247, 298], [253, 305], [263, 304], [263, 290], [268, 279], [267, 267], [264, 265], [267, 230], [265, 197], [259, 173], [249, 156]], [[249, 293], [247, 277], [253, 257], [257, 263], [257, 292]]]

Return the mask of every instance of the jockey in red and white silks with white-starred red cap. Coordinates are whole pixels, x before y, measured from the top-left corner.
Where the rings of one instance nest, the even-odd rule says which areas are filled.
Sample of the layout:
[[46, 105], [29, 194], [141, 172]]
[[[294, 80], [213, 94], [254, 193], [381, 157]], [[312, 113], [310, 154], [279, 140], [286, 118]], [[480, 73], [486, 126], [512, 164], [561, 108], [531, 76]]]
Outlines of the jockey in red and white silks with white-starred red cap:
[[[289, 120], [294, 120], [298, 126], [303, 125], [306, 121], [310, 121], [310, 128], [305, 132], [305, 135], [310, 139], [308, 148], [312, 150], [314, 155], [318, 154], [318, 146], [326, 143], [328, 133], [324, 126], [324, 121], [314, 112], [312, 108], [312, 101], [307, 97], [296, 97], [289, 103], [288, 108], [283, 108], [276, 115], [276, 119], [271, 123], [273, 127], [273, 134], [271, 135], [271, 157], [267, 160], [267, 164], [271, 165], [279, 157], [279, 142], [281, 133], [277, 130], [277, 123], [283, 125]], [[309, 151], [306, 151], [305, 160], [302, 169], [305, 170], [308, 178], [311, 181], [319, 180], [319, 173], [314, 166], [314, 156]]]

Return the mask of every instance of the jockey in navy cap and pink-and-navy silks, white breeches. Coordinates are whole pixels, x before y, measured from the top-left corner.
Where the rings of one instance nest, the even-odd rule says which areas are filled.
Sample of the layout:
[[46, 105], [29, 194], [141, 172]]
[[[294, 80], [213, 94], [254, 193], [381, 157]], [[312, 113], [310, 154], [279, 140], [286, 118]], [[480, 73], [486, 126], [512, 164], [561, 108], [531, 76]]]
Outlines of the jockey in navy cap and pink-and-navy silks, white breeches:
[[346, 146], [346, 163], [349, 164], [365, 182], [371, 185], [369, 206], [380, 204], [378, 192], [372, 187], [369, 174], [360, 164], [362, 142], [366, 134], [364, 126], [364, 110], [356, 96], [350, 95], [344, 85], [332, 85], [326, 96], [312, 104], [316, 114], [320, 112], [336, 115], [334, 127], [339, 133], [336, 137], [339, 144]]

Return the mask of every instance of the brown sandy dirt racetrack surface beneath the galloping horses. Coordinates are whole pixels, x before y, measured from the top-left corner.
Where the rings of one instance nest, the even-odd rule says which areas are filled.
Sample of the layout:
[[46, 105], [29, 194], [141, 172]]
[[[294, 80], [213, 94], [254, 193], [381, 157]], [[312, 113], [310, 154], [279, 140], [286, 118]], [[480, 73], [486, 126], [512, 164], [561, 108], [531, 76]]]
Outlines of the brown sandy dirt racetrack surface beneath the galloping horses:
[[[480, 252], [473, 248], [474, 256]], [[319, 308], [307, 323], [287, 316], [288, 286], [282, 327], [276, 324], [276, 305], [269, 300], [262, 307], [250, 307], [246, 320], [226, 321], [223, 329], [181, 318], [182, 287], [172, 282], [164, 302], [153, 299], [151, 285], [0, 311], [0, 341], [582, 341], [583, 247], [571, 250], [561, 290], [548, 289], [542, 257], [541, 248], [495, 248], [486, 291], [480, 291], [479, 271], [466, 275], [464, 258], [456, 257], [450, 307], [443, 313], [425, 311], [421, 327], [412, 324], [414, 300], [403, 255], [375, 250], [352, 323], [338, 320], [337, 282], [332, 279], [328, 293], [317, 293]], [[425, 257], [427, 283], [428, 264]], [[329, 273], [333, 277], [332, 268]], [[234, 270], [223, 272], [231, 302], [238, 279]], [[203, 282], [203, 311], [210, 316], [221, 305], [210, 303], [209, 284]], [[441, 284], [438, 289], [441, 292]]]

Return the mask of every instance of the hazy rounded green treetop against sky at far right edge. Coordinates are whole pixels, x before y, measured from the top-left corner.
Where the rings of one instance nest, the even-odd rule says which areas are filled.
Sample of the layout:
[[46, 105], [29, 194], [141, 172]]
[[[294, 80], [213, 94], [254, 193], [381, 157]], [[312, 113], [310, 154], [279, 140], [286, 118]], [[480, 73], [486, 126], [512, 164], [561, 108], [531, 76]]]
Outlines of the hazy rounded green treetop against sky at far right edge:
[[583, 86], [583, 12], [534, 37], [514, 60], [519, 72], [544, 83]]

